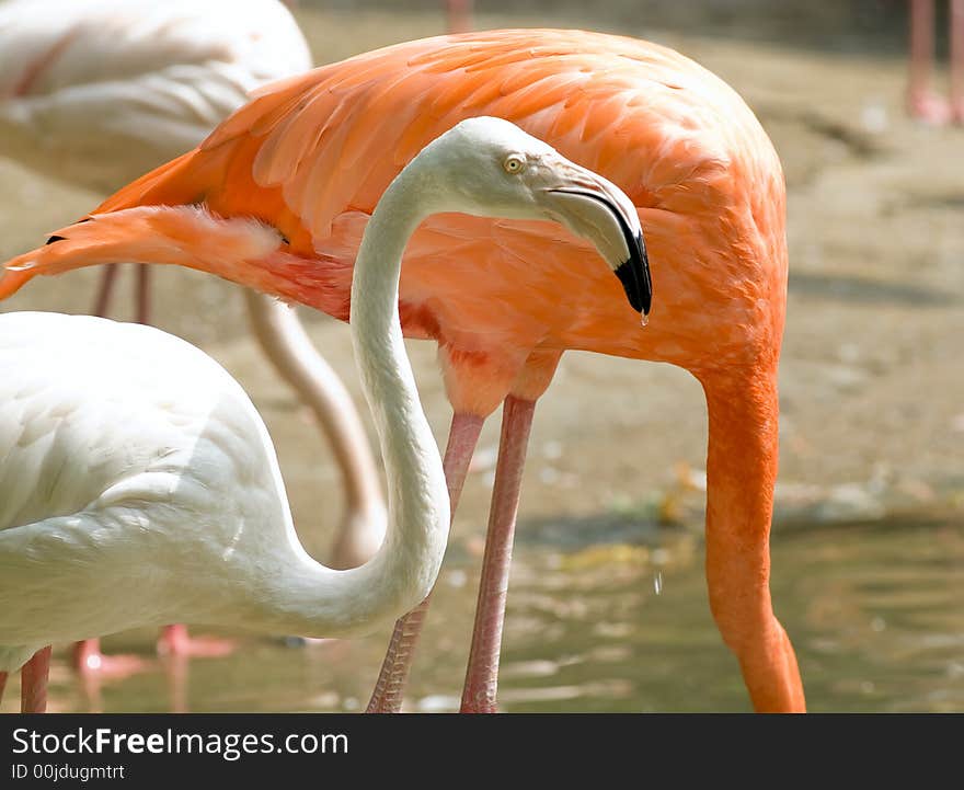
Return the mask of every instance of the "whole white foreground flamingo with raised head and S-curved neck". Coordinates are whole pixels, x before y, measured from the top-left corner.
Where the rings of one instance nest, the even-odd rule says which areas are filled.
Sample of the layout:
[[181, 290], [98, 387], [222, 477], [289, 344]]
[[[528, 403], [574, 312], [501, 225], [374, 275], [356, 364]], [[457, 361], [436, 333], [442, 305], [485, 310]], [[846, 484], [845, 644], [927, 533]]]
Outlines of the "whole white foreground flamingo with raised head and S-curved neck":
[[[352, 280], [391, 525], [357, 569], [333, 571], [301, 548], [264, 424], [203, 353], [140, 325], [0, 317], [0, 673], [26, 664], [24, 709], [42, 707], [50, 641], [171, 620], [343, 637], [428, 593], [451, 470], [418, 402], [398, 298], [409, 237], [438, 211], [563, 222], [613, 271], [640, 252], [629, 198], [506, 121], [463, 121], [398, 175]], [[246, 231], [277, 244], [268, 226]]]

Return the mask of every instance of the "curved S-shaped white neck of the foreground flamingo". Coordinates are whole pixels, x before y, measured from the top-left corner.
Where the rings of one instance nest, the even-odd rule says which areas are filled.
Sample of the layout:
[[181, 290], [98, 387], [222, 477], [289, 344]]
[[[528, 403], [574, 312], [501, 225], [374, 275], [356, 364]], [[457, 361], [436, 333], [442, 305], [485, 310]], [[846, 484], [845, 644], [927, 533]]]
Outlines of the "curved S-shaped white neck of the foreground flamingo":
[[299, 561], [284, 570], [264, 602], [265, 619], [292, 633], [356, 636], [394, 620], [429, 593], [445, 553], [448, 491], [402, 341], [398, 306], [402, 254], [427, 214], [418, 205], [418, 179], [411, 170], [382, 195], [352, 283], [355, 356], [388, 478], [388, 534], [371, 560], [347, 571], [325, 568], [300, 545], [292, 546]]

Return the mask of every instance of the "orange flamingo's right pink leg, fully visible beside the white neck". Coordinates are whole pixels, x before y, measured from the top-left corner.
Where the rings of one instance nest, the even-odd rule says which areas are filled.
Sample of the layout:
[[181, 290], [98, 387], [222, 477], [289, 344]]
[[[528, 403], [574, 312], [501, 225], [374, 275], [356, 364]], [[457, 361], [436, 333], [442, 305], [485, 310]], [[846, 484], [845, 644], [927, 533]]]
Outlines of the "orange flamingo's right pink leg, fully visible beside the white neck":
[[485, 557], [482, 560], [482, 581], [475, 606], [475, 627], [472, 649], [462, 691], [462, 713], [494, 713], [498, 686], [498, 652], [502, 648], [502, 627], [505, 621], [505, 602], [508, 594], [509, 564], [516, 514], [526, 463], [526, 447], [536, 401], [509, 396], [502, 415], [502, 437], [489, 512], [489, 534], [485, 537]]

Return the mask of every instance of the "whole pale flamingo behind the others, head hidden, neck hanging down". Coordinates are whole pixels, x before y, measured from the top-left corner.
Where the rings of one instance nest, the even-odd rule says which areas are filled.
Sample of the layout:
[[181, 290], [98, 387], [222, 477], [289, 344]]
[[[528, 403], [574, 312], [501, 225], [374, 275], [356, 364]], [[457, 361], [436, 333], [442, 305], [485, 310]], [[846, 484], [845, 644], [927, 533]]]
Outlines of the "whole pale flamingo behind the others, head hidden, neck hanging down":
[[[311, 56], [276, 0], [8, 0], [0, 4], [0, 153], [87, 188], [112, 192], [197, 145], [252, 88], [305, 71]], [[116, 266], [94, 312], [105, 314]], [[148, 270], [138, 266], [136, 316], [148, 320]], [[332, 562], [351, 568], [385, 535], [385, 506], [367, 436], [344, 386], [297, 317], [252, 294], [255, 335], [282, 377], [317, 416], [345, 483]], [[165, 629], [169, 653], [217, 654], [223, 643]], [[112, 667], [130, 664], [114, 657]], [[95, 642], [76, 663], [101, 668]]]

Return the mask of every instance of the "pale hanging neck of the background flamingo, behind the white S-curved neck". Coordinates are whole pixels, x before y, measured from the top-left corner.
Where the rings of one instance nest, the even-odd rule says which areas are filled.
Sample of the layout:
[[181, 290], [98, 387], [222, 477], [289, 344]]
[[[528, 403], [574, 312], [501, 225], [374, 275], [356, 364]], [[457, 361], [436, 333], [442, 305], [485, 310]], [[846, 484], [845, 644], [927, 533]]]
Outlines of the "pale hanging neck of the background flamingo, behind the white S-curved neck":
[[244, 298], [262, 351], [311, 409], [342, 472], [345, 514], [329, 564], [337, 569], [360, 565], [381, 546], [387, 518], [378, 467], [355, 402], [292, 308], [249, 288]]

